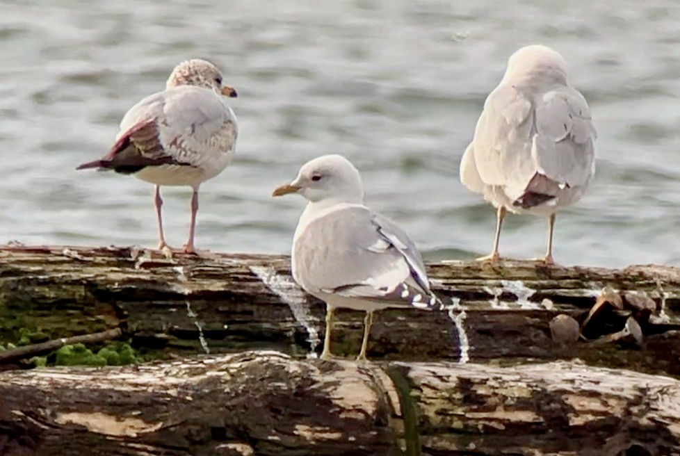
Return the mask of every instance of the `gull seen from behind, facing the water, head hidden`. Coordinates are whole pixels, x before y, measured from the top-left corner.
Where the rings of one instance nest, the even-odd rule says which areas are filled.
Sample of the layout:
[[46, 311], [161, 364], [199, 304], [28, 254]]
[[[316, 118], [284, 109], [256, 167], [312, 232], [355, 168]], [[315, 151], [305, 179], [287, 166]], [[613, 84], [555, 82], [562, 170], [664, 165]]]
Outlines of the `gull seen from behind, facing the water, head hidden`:
[[553, 264], [556, 213], [590, 186], [596, 138], [588, 103], [567, 84], [560, 54], [536, 44], [510, 56], [460, 163], [460, 181], [497, 208], [493, 251], [479, 260], [499, 261], [501, 225], [510, 211], [548, 217], [541, 261]]

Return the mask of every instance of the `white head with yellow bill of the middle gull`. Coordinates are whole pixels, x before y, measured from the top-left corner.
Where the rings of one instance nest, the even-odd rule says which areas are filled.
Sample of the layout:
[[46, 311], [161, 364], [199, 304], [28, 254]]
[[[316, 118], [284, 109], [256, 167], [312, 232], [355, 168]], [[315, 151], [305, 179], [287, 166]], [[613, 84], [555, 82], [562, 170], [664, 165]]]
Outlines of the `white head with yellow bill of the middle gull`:
[[359, 171], [341, 155], [324, 155], [308, 161], [290, 184], [280, 186], [272, 196], [300, 193], [310, 202], [332, 200], [361, 204], [364, 186]]

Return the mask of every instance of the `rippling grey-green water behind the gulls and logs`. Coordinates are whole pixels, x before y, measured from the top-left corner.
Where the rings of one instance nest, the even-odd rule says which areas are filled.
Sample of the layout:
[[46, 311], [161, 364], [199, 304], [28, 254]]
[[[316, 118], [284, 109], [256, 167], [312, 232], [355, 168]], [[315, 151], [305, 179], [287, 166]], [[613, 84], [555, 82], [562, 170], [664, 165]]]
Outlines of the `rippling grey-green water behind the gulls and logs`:
[[[596, 182], [558, 215], [557, 261], [680, 263], [674, 0], [47, 4], [0, 0], [0, 242], [156, 245], [152, 186], [74, 167], [106, 152], [176, 63], [204, 57], [238, 90], [241, 131], [232, 167], [202, 186], [199, 247], [287, 252], [304, 202], [271, 190], [340, 153], [426, 257], [486, 254], [494, 210], [460, 184], [458, 164], [508, 56], [541, 42], [567, 59], [599, 133]], [[179, 246], [191, 190], [163, 195]], [[501, 253], [542, 254], [545, 230], [509, 218]]]

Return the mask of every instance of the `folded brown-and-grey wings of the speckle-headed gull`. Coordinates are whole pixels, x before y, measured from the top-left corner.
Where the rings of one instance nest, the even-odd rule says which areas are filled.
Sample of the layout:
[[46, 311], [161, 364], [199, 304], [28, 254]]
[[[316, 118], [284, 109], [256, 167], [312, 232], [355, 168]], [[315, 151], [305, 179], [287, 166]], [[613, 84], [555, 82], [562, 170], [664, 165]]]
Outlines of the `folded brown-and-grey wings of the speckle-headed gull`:
[[151, 95], [127, 112], [108, 158], [128, 166], [201, 166], [212, 154], [233, 152], [237, 136], [236, 116], [222, 97], [179, 86]]

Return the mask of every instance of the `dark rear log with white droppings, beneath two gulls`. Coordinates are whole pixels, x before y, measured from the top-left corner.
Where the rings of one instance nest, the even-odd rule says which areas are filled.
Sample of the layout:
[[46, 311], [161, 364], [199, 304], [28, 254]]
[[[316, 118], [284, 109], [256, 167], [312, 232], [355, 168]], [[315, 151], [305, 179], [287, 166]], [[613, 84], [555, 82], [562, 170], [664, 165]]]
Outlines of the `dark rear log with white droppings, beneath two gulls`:
[[[680, 375], [676, 268], [451, 261], [428, 263], [428, 273], [435, 291], [454, 309], [379, 312], [371, 359], [512, 364], [578, 357], [600, 366]], [[0, 249], [0, 343], [17, 340], [22, 329], [56, 339], [120, 327], [149, 357], [261, 348], [293, 355], [320, 352], [325, 307], [302, 293], [289, 274], [283, 256], [165, 259], [134, 247], [6, 246]], [[638, 312], [646, 318], [640, 320], [644, 348], [553, 341], [552, 318], [567, 314], [583, 323], [604, 286], [653, 299], [653, 311]], [[631, 314], [610, 307], [613, 320], [597, 323], [603, 325], [601, 334], [620, 331]], [[359, 312], [338, 312], [335, 354], [357, 354], [362, 318]], [[590, 339], [598, 336], [597, 325], [594, 332], [589, 328]]]

